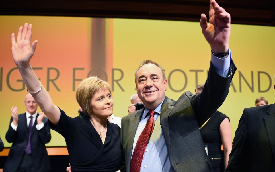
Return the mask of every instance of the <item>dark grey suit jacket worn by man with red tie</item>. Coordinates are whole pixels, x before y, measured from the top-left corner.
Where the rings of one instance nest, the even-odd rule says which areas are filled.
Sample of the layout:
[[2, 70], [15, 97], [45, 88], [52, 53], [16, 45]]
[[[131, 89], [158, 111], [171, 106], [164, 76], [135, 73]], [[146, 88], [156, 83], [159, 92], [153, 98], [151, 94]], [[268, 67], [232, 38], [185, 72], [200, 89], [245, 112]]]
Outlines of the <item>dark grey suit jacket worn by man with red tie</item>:
[[[223, 78], [210, 64], [208, 79], [201, 93], [193, 95], [186, 91], [177, 101], [165, 97], [161, 106], [160, 124], [172, 170], [175, 171], [212, 171], [199, 126], [216, 112], [225, 100], [235, 65], [231, 64], [232, 74]], [[121, 143], [124, 149], [126, 171], [130, 171], [130, 161], [134, 136], [141, 119], [142, 110], [122, 118]]]

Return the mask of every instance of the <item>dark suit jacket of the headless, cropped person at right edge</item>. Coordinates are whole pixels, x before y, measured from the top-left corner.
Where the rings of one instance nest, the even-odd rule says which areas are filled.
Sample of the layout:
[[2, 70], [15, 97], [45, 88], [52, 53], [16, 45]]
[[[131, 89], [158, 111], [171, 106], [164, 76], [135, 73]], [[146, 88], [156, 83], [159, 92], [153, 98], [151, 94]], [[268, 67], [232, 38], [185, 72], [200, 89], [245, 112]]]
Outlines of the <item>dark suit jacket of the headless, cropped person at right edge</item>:
[[243, 110], [226, 171], [275, 171], [275, 104]]

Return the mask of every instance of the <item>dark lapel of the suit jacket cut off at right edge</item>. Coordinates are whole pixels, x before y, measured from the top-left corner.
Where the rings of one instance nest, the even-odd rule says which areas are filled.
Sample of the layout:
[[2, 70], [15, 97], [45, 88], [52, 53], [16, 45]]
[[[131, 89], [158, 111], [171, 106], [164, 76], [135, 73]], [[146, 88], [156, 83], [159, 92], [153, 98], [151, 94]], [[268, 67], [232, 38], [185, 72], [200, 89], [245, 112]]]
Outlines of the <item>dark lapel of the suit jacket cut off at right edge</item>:
[[264, 117], [264, 122], [271, 150], [275, 158], [275, 104], [271, 105], [267, 112], [269, 115]]

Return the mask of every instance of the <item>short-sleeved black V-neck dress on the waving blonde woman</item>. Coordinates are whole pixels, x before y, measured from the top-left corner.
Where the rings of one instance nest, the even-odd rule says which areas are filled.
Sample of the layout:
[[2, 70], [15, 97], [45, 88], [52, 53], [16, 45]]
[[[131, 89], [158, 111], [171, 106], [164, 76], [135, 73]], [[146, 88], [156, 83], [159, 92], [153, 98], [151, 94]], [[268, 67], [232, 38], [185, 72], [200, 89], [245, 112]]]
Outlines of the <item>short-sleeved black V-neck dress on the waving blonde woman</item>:
[[71, 118], [60, 110], [57, 126], [49, 121], [52, 130], [66, 141], [71, 170], [114, 172], [121, 159], [120, 128], [107, 120], [104, 144], [88, 116]]

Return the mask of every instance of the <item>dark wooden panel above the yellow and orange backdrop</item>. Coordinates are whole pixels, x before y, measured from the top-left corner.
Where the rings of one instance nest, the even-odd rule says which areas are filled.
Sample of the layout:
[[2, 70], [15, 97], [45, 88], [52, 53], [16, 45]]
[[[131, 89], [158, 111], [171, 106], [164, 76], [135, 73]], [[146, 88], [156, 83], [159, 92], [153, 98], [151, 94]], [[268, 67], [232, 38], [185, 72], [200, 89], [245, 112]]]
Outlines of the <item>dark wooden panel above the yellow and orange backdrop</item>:
[[[231, 14], [231, 22], [275, 26], [275, 1], [217, 0]], [[0, 15], [46, 15], [199, 21], [208, 13], [206, 0], [19, 1], [0, 2]]]

